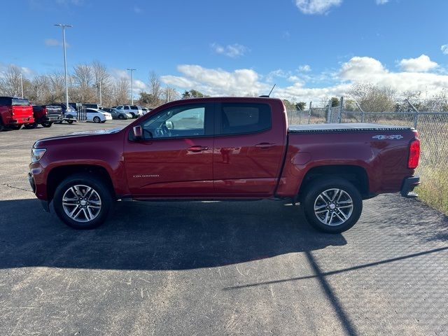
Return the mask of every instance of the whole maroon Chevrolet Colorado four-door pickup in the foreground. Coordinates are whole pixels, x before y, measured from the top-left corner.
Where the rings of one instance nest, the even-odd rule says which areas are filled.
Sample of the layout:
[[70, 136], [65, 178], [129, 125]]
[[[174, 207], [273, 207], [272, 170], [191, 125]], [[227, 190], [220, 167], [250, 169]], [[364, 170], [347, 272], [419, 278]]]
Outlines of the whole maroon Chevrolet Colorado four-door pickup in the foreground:
[[78, 229], [102, 224], [116, 200], [285, 199], [315, 228], [343, 232], [367, 198], [416, 196], [412, 128], [287, 120], [279, 99], [171, 102], [121, 130], [37, 141], [29, 182], [45, 210], [52, 202]]

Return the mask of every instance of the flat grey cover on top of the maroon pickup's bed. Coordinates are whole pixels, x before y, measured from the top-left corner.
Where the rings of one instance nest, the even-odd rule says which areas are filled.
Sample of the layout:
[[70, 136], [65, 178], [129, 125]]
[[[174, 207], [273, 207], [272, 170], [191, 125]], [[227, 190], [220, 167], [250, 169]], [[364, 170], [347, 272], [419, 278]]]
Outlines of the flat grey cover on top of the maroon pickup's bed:
[[289, 125], [288, 127], [288, 133], [334, 133], [334, 132], [402, 131], [402, 130], [414, 130], [414, 128], [406, 126], [381, 125], [371, 123]]

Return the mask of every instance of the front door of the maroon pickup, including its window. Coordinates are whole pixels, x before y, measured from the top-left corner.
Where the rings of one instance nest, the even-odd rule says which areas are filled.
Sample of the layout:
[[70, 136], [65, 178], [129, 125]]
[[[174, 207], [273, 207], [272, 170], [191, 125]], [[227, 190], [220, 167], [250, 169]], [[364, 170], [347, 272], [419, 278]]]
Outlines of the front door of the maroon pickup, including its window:
[[144, 139], [125, 140], [132, 196], [195, 197], [213, 194], [214, 105], [182, 104], [142, 117]]

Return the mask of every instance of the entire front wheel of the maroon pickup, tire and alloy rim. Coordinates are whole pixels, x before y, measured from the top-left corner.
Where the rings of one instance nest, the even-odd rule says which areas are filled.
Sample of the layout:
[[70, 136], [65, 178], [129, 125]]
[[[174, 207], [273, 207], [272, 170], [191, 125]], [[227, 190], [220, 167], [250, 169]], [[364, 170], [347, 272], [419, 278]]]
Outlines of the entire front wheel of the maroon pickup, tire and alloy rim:
[[78, 230], [97, 228], [106, 221], [113, 203], [111, 190], [102, 180], [75, 174], [55, 190], [53, 204], [57, 216]]

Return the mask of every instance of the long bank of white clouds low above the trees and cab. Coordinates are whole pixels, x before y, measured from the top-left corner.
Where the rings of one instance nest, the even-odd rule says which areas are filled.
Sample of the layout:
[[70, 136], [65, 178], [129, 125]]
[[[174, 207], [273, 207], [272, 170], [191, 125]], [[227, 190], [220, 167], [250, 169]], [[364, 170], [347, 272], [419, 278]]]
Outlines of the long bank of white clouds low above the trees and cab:
[[[263, 76], [253, 69], [207, 69], [200, 65], [178, 66], [179, 76], [162, 76], [167, 85], [180, 90], [195, 89], [211, 96], [246, 96], [269, 92], [272, 83], [269, 80], [281, 78], [273, 92], [273, 97], [295, 99], [295, 101], [321, 102], [328, 97], [346, 95], [353, 83], [368, 81], [370, 83], [393, 87], [398, 92], [407, 90], [436, 94], [443, 87], [448, 87], [448, 76], [441, 73], [389, 71], [372, 57], [352, 57], [333, 73], [316, 73], [315, 76], [299, 74], [277, 69]], [[324, 78], [319, 82], [319, 78]], [[281, 83], [290, 85], [282, 86]], [[318, 87], [316, 87], [318, 86]]]

